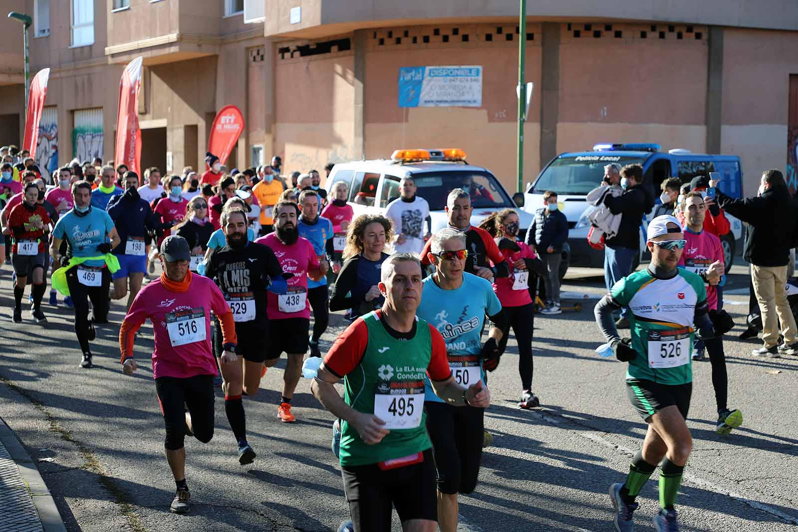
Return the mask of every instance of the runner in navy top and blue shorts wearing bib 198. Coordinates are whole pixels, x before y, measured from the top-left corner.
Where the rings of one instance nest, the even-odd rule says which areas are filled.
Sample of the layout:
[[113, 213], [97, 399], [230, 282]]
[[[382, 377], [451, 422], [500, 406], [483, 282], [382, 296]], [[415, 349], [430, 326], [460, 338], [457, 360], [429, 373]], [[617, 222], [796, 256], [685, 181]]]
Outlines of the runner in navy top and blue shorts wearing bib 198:
[[152, 214], [149, 202], [139, 195], [138, 184], [139, 176], [135, 171], [125, 172], [124, 194], [111, 199], [107, 209], [120, 238], [120, 245], [113, 250], [120, 269], [111, 277], [111, 299], [121, 299], [128, 295], [129, 282], [128, 309], [141, 290], [141, 282], [147, 273], [146, 235], [148, 231], [163, 227]]

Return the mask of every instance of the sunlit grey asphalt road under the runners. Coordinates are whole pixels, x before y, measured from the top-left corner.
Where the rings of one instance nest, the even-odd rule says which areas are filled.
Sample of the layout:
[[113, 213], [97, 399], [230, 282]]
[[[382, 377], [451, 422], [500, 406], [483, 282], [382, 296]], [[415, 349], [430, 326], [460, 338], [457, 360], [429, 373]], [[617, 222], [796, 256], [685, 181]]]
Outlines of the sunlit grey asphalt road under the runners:
[[[595, 274], [579, 270], [575, 274]], [[573, 274], [571, 274], [573, 275]], [[747, 286], [735, 266], [727, 290]], [[563, 290], [602, 294], [602, 279], [571, 278]], [[689, 428], [693, 455], [679, 494], [682, 530], [796, 530], [798, 525], [798, 357], [757, 360], [755, 342], [737, 340], [747, 298], [726, 296], [737, 327], [727, 336], [729, 406], [745, 423], [713, 432], [716, 413], [709, 362], [694, 363]], [[491, 374], [493, 405], [485, 423], [495, 435], [484, 452], [480, 484], [461, 498], [461, 530], [612, 530], [610, 483], [622, 480], [645, 424], [626, 399], [624, 365], [596, 357], [602, 343], [592, 307], [535, 321], [535, 393], [542, 408], [516, 408], [517, 350], [511, 340]], [[745, 301], [745, 303], [744, 303]], [[737, 303], [737, 304], [734, 304]], [[217, 396], [211, 443], [187, 439], [192, 513], [168, 512], [174, 483], [163, 455], [164, 428], [148, 364], [124, 376], [118, 324], [97, 330], [95, 368], [81, 370], [72, 311], [45, 305], [46, 327], [10, 321], [10, 268], [0, 270], [0, 417], [26, 444], [69, 530], [336, 530], [347, 518], [328, 414], [302, 380], [296, 424], [276, 417], [282, 367], [245, 400], [249, 441], [259, 456], [241, 467]], [[342, 330], [334, 316], [323, 340]], [[146, 360], [152, 329], [136, 341]], [[657, 474], [644, 487], [637, 530], [654, 530]], [[395, 530], [400, 530], [395, 521]]]

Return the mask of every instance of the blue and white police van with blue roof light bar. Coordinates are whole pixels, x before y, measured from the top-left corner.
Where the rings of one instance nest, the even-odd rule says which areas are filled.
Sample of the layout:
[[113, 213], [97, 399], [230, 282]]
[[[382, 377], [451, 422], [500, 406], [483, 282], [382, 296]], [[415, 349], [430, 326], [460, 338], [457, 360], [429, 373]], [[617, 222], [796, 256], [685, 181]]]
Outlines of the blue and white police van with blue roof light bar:
[[[523, 209], [529, 213], [543, 207], [543, 192], [556, 191], [559, 210], [568, 219], [568, 246], [572, 266], [602, 267], [604, 252], [587, 243], [591, 223], [587, 215], [595, 208], [587, 203], [585, 196], [601, 184], [606, 164], [640, 164], [643, 167], [643, 187], [649, 189], [651, 197], [658, 198], [660, 184], [671, 176], [681, 183], [689, 183], [697, 175], [709, 175], [710, 171], [721, 174], [718, 188], [726, 195], [739, 198], [742, 194], [742, 170], [738, 156], [708, 155], [692, 153], [685, 149], [661, 152], [659, 144], [595, 144], [589, 152], [567, 152], [556, 156], [540, 171], [534, 183], [527, 186], [523, 195]], [[657, 200], [659, 203], [659, 200]], [[640, 227], [639, 262], [650, 260], [646, 250], [646, 230], [651, 214]], [[733, 257], [741, 246], [742, 223], [725, 213], [731, 231], [721, 237], [726, 271], [732, 266]]]

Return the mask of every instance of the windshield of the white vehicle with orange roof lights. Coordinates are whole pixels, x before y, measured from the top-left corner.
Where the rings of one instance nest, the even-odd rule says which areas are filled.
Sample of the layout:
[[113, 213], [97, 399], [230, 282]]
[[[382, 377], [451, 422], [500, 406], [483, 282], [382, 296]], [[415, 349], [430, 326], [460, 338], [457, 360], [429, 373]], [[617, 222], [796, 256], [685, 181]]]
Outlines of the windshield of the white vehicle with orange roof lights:
[[425, 171], [413, 174], [418, 187], [416, 194], [427, 200], [430, 211], [443, 211], [446, 197], [454, 188], [462, 188], [471, 195], [476, 208], [514, 207], [507, 192], [487, 171]]

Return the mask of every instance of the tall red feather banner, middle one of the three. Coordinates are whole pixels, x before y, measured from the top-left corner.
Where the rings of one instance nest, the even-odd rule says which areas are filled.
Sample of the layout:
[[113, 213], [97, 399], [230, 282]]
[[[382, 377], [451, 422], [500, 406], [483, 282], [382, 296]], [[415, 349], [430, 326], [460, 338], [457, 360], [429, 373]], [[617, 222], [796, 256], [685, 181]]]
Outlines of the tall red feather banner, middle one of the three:
[[141, 130], [139, 129], [139, 86], [142, 57], [130, 61], [119, 82], [119, 112], [117, 112], [117, 144], [113, 164], [124, 164], [128, 170], [141, 175]]

